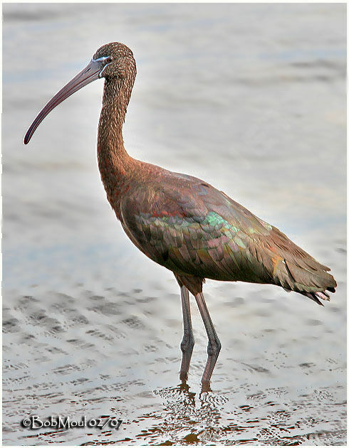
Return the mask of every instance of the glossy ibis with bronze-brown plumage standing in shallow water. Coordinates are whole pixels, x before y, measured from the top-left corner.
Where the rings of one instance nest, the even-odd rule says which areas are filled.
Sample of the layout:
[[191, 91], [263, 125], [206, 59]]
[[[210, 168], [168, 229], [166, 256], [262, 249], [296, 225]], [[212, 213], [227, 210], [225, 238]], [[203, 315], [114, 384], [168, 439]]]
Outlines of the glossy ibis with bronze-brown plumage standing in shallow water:
[[184, 327], [182, 380], [187, 379], [194, 346], [189, 292], [194, 295], [207, 331], [202, 384], [209, 385], [221, 344], [202, 294], [206, 278], [276, 284], [320, 305], [320, 299], [329, 300], [326, 290], [335, 292], [337, 284], [328, 267], [223, 191], [127, 154], [122, 129], [135, 75], [135, 59], [127, 46], [115, 42], [100, 47], [86, 68], [39, 112], [24, 144], [54, 107], [89, 82], [105, 78], [97, 151], [108, 201], [138, 249], [175, 274]]

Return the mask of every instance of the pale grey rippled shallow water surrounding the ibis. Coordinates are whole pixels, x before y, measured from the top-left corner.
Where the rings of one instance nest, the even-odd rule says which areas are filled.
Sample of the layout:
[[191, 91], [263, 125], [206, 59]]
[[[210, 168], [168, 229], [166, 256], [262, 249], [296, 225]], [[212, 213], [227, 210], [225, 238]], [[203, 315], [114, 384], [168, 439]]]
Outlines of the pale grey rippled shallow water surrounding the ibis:
[[[5, 4], [4, 444], [345, 444], [345, 6]], [[132, 156], [204, 178], [331, 267], [325, 307], [265, 285], [207, 282], [206, 336], [179, 384], [172, 273], [116, 222], [95, 160], [102, 82], [21, 140], [108, 41], [137, 60]], [[123, 420], [28, 430], [50, 415]]]

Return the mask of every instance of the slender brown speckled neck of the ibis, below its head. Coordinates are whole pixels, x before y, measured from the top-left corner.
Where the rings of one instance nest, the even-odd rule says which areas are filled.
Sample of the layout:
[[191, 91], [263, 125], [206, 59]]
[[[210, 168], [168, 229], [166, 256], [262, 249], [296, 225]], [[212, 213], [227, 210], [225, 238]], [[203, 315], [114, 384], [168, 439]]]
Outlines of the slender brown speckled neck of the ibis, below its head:
[[103, 107], [98, 126], [98, 166], [108, 201], [118, 215], [118, 204], [127, 189], [137, 161], [123, 143], [123, 122], [133, 82], [105, 80]]

